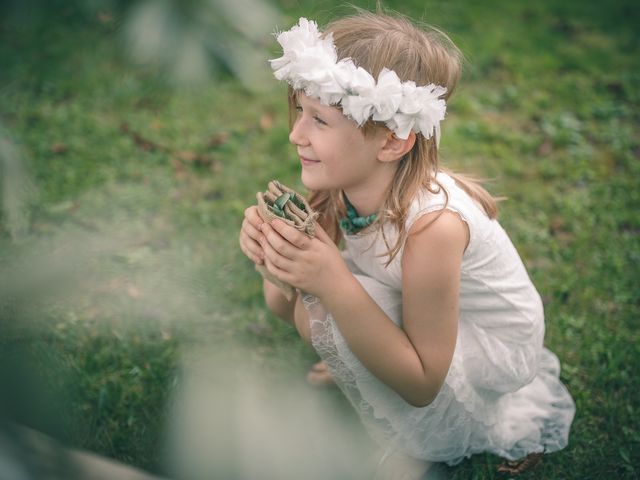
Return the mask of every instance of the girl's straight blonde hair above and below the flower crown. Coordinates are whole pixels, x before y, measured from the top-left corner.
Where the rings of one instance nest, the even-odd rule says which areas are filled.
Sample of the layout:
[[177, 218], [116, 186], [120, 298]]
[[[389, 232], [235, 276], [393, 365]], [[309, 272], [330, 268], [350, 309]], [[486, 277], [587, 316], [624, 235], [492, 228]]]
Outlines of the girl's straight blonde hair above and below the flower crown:
[[[402, 81], [413, 80], [417, 85], [434, 83], [447, 88], [445, 100], [453, 93], [460, 78], [461, 54], [444, 33], [435, 28], [419, 28], [402, 16], [358, 10], [356, 14], [331, 22], [324, 30], [331, 33], [338, 58], [350, 57], [357, 66], [374, 78], [383, 68], [396, 72]], [[289, 90], [292, 121], [295, 115], [295, 91]], [[373, 121], [363, 126], [364, 134], [382, 128]], [[390, 263], [400, 251], [407, 237], [406, 218], [411, 201], [421, 189], [432, 193], [445, 192], [436, 179], [438, 149], [435, 138], [416, 135], [414, 147], [400, 160], [392, 184], [379, 213], [378, 227], [391, 221], [398, 230], [398, 241], [389, 245]], [[475, 199], [487, 215], [497, 214], [495, 199], [470, 177], [452, 175], [456, 183]], [[341, 238], [338, 221], [346, 214], [342, 192], [310, 192], [311, 206], [321, 213], [320, 223], [336, 243]], [[384, 238], [384, 230], [382, 230]], [[386, 243], [386, 238], [384, 238]]]

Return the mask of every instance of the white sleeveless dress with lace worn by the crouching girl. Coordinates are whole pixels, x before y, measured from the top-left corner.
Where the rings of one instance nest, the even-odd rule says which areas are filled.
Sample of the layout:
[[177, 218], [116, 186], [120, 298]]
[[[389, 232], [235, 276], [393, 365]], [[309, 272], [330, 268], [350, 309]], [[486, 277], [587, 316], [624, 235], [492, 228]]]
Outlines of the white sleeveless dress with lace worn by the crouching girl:
[[[355, 357], [331, 314], [304, 296], [312, 343], [369, 433], [389, 453], [459, 463], [490, 452], [515, 460], [567, 445], [575, 405], [559, 380], [557, 357], [543, 347], [542, 302], [507, 234], [453, 179], [438, 174], [446, 208], [469, 227], [462, 259], [455, 352], [442, 389], [428, 406], [413, 407]], [[411, 205], [407, 229], [445, 207], [443, 192], [423, 192]], [[390, 245], [397, 231], [385, 226]], [[347, 235], [344, 257], [389, 318], [402, 326], [402, 250], [385, 267], [379, 233]]]

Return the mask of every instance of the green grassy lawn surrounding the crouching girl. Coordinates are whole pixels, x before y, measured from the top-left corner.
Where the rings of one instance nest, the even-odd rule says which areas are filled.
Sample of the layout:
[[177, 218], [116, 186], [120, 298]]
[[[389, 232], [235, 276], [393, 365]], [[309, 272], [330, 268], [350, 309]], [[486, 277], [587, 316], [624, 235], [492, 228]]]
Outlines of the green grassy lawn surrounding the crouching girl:
[[[576, 401], [569, 447], [521, 478], [640, 475], [640, 8], [586, 3], [387, 2], [447, 31], [466, 56], [443, 163], [508, 198], [500, 220]], [[212, 394], [200, 418], [210, 407], [217, 423], [208, 436], [195, 428], [197, 448], [173, 447], [178, 464], [227, 445], [225, 429], [246, 417], [225, 372], [308, 398], [315, 355], [267, 313], [237, 247], [255, 192], [272, 178], [300, 187], [299, 167], [282, 85], [249, 90], [228, 66], [198, 84], [165, 81], [161, 65], [123, 54], [124, 4], [0, 14], [0, 389], [14, 392], [17, 418], [69, 445], [167, 471], [172, 412], [194, 378], [216, 386], [192, 390]], [[281, 0], [279, 26], [324, 22], [345, 11], [336, 5]], [[338, 392], [313, 397], [356, 425]], [[271, 451], [261, 425], [256, 459]], [[478, 455], [450, 473], [500, 478], [500, 461]]]

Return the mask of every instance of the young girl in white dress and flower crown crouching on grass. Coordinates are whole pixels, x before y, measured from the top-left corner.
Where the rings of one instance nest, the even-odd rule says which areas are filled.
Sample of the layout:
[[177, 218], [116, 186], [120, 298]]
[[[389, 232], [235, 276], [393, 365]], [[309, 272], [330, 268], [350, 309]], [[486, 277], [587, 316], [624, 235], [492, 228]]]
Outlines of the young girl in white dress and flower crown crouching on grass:
[[366, 12], [324, 32], [303, 18], [278, 41], [272, 68], [290, 86], [289, 139], [321, 226], [309, 238], [253, 206], [240, 246], [298, 289], [289, 302], [265, 282], [267, 306], [384, 446], [380, 471], [420, 478], [474, 453], [565, 447], [575, 407], [543, 347], [540, 296], [492, 197], [438, 164], [458, 51]]

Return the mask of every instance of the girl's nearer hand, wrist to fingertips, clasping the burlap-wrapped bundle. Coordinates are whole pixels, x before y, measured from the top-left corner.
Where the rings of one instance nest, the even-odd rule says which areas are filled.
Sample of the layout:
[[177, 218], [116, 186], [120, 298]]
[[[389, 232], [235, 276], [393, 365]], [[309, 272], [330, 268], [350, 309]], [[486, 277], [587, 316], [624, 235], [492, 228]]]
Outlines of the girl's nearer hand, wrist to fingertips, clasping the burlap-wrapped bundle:
[[351, 275], [338, 247], [316, 224], [309, 238], [279, 220], [262, 224], [264, 263], [278, 279], [322, 299], [339, 291], [341, 278]]

